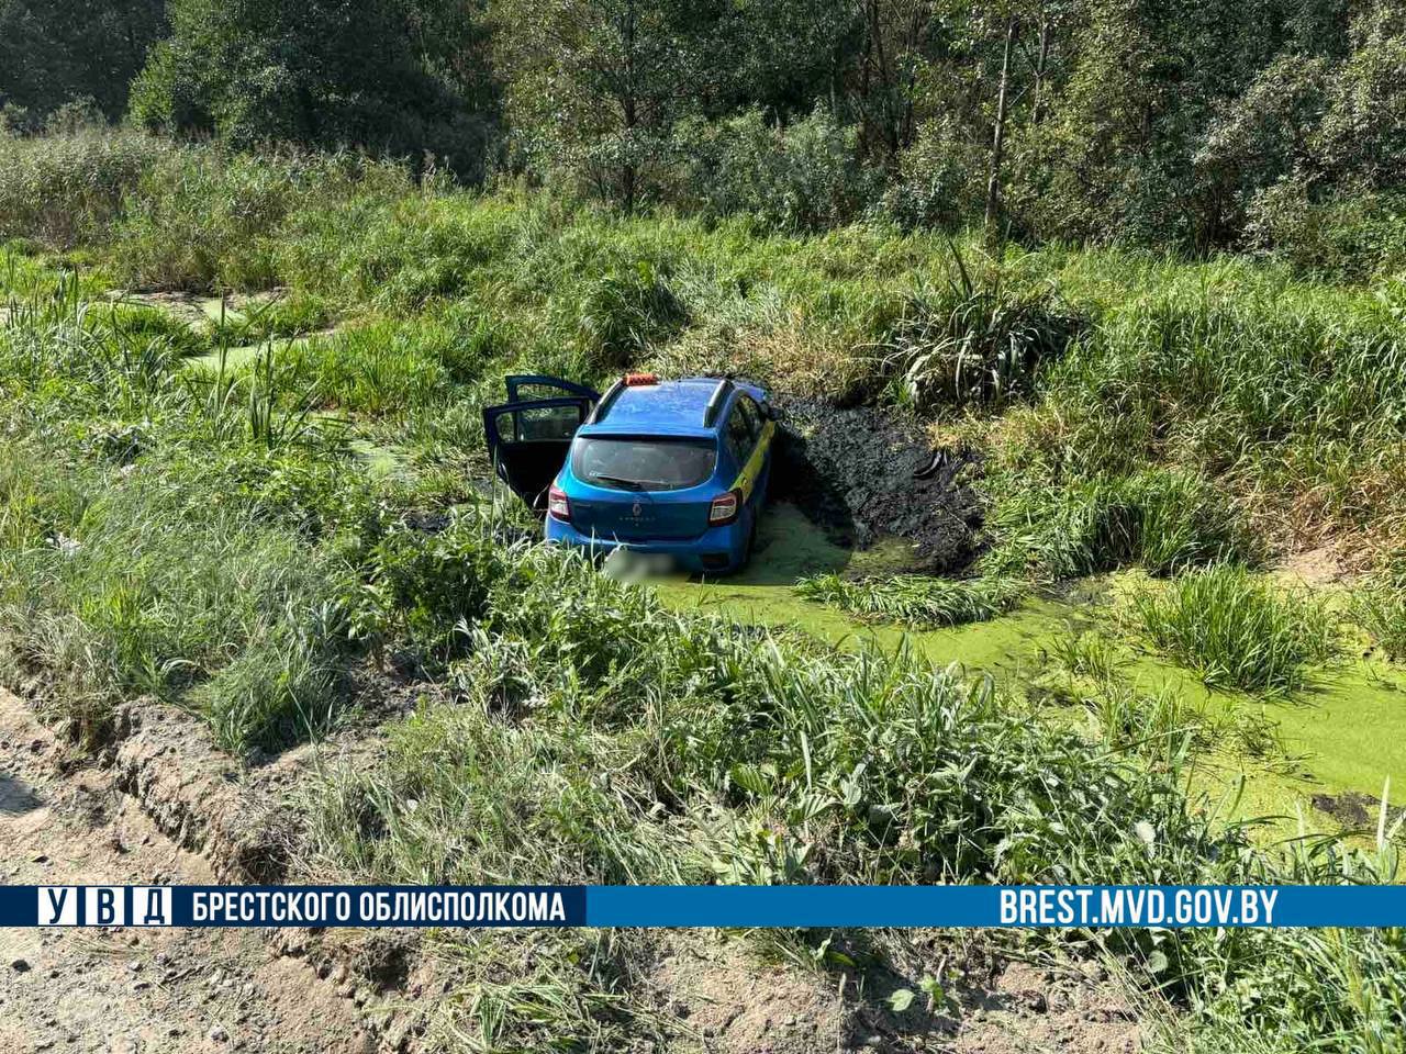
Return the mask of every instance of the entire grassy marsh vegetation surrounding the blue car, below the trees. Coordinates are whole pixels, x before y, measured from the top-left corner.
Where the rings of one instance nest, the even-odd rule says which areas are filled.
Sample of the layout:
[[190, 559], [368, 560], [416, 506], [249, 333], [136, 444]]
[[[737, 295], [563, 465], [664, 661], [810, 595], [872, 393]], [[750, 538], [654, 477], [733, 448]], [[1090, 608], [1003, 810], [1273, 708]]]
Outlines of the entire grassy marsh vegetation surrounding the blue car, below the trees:
[[[969, 250], [965, 274], [931, 236], [621, 221], [138, 136], [0, 141], [0, 229], [22, 239], [0, 271], [6, 680], [90, 742], [121, 700], [155, 694], [236, 752], [342, 720], [353, 670], [441, 686], [453, 704], [309, 795], [319, 876], [1396, 874], [1386, 825], [1368, 852], [1268, 850], [1188, 795], [1208, 727], [1128, 677], [1112, 637], [1208, 680], [1292, 690], [1341, 634], [1253, 571], [1333, 538], [1382, 569], [1351, 610], [1399, 653], [1400, 580], [1375, 554], [1400, 538], [1406, 500], [1400, 285], [1114, 250]], [[103, 302], [120, 287], [288, 292], [231, 327]], [[260, 350], [228, 354], [250, 339]], [[1036, 691], [672, 613], [524, 547], [515, 510], [470, 482], [478, 408], [510, 367], [624, 365], [893, 401], [988, 453], [980, 578], [811, 586], [846, 607], [943, 624], [1123, 568], [1149, 573], [1142, 599], [1050, 641]], [[368, 471], [373, 448], [395, 451], [394, 472]], [[447, 526], [425, 530], [427, 512]], [[1097, 720], [1071, 724], [1070, 701]], [[491, 1047], [652, 1034], [665, 1026], [628, 998], [647, 940], [451, 939], [478, 972], [441, 1024]], [[1204, 1048], [1253, 1034], [1386, 1051], [1403, 1026], [1395, 932], [1097, 943], [1191, 1006]]]

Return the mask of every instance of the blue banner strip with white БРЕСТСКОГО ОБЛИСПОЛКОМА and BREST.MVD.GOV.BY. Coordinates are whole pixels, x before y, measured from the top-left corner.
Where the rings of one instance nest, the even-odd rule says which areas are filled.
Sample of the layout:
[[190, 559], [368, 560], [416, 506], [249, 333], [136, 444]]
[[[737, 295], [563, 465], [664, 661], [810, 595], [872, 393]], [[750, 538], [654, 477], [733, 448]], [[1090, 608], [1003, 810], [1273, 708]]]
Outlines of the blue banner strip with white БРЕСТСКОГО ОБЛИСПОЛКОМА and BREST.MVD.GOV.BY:
[[1406, 926], [1406, 885], [0, 885], [0, 926]]

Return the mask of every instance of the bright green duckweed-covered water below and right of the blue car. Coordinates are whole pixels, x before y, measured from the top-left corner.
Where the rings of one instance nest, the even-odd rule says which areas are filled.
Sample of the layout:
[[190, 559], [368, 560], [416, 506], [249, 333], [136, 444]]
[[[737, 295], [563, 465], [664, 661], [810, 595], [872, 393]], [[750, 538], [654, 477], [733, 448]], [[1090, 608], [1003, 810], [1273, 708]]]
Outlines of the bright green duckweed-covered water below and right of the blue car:
[[[666, 604], [727, 614], [775, 627], [803, 630], [839, 648], [912, 648], [932, 661], [959, 663], [969, 673], [991, 672], [1029, 683], [1045, 668], [1042, 649], [1073, 628], [1109, 620], [1109, 597], [1125, 580], [1081, 583], [1066, 599], [1032, 599], [988, 623], [936, 631], [905, 631], [865, 623], [803, 600], [793, 586], [824, 572], [900, 572], [911, 569], [903, 542], [852, 551], [832, 542], [797, 509], [768, 512], [758, 551], [741, 575], [716, 580], [668, 579], [654, 589]], [[1237, 715], [1247, 727], [1272, 728], [1268, 749], [1247, 750], [1227, 738], [1202, 755], [1192, 784], [1225, 815], [1275, 816], [1261, 836], [1375, 826], [1384, 783], [1391, 800], [1406, 802], [1406, 672], [1374, 659], [1324, 670], [1294, 700], [1264, 701], [1208, 690], [1199, 679], [1156, 656], [1136, 653], [1123, 670], [1146, 690], [1170, 687], [1208, 717]], [[1361, 816], [1369, 812], [1371, 822]]]

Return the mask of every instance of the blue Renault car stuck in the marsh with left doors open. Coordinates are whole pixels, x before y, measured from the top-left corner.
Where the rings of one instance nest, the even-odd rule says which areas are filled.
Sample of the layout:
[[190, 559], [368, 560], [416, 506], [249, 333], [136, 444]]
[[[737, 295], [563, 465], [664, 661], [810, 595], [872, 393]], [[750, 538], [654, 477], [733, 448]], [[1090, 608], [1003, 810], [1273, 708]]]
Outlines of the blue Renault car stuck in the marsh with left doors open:
[[756, 385], [628, 374], [605, 395], [509, 377], [484, 410], [499, 478], [546, 514], [546, 537], [598, 554], [654, 554], [725, 573], [752, 552], [778, 415]]

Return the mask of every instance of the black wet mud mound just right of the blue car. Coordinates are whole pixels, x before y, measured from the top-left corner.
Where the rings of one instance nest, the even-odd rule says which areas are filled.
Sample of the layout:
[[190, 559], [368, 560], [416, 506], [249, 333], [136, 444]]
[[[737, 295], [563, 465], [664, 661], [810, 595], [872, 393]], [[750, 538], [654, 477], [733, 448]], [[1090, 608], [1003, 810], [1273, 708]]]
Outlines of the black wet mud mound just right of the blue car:
[[891, 412], [779, 396], [773, 489], [844, 545], [912, 545], [917, 569], [960, 571], [977, 552], [981, 505], [962, 469], [970, 451], [934, 450]]

